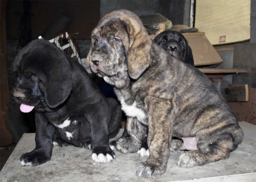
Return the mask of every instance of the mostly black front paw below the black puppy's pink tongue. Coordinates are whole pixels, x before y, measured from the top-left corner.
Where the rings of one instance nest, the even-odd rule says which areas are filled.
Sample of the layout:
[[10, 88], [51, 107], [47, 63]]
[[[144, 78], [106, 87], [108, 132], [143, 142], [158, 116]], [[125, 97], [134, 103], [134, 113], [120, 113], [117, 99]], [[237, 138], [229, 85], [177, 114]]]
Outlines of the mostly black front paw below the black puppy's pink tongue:
[[44, 162], [47, 162], [50, 159], [51, 159], [51, 157], [44, 154], [44, 152], [34, 150], [32, 152], [23, 154], [20, 157], [19, 164], [21, 164], [22, 166], [28, 166], [28, 165], [36, 166], [36, 165], [40, 165]]

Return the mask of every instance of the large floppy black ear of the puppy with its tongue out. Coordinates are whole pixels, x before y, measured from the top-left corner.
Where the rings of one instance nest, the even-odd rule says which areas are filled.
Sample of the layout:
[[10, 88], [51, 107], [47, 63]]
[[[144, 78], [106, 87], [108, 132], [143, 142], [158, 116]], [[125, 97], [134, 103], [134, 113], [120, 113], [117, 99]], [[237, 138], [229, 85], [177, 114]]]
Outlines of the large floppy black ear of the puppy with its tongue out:
[[67, 56], [62, 55], [55, 58], [55, 61], [49, 61], [50, 63], [45, 65], [48, 67], [44, 69], [47, 76], [45, 99], [50, 108], [55, 108], [62, 104], [71, 93], [72, 71], [68, 59]]

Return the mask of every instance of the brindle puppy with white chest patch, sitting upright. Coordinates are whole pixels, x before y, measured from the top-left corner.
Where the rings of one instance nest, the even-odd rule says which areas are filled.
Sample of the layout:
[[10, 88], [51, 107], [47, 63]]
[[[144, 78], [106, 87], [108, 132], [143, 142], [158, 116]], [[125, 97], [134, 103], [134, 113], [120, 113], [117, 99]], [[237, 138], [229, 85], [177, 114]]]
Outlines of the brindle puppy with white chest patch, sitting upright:
[[115, 86], [128, 116], [126, 132], [112, 148], [137, 152], [148, 133], [149, 157], [137, 176], [156, 178], [166, 171], [172, 136], [195, 138], [198, 148], [182, 154], [179, 167], [227, 159], [237, 148], [243, 132], [213, 83], [157, 46], [137, 15], [113, 11], [91, 37], [86, 70]]

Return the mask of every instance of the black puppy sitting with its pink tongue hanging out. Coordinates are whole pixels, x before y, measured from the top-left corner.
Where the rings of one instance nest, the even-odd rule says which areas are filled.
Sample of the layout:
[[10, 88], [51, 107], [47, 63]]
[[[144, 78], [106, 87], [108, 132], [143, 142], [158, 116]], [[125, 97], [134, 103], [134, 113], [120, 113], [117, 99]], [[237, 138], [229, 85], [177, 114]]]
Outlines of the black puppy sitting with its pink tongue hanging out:
[[21, 165], [49, 161], [53, 143], [91, 148], [96, 162], [115, 158], [108, 142], [119, 130], [121, 107], [103, 96], [79, 63], [48, 41], [34, 40], [19, 52], [13, 71], [20, 111], [35, 108], [36, 147], [21, 156]]

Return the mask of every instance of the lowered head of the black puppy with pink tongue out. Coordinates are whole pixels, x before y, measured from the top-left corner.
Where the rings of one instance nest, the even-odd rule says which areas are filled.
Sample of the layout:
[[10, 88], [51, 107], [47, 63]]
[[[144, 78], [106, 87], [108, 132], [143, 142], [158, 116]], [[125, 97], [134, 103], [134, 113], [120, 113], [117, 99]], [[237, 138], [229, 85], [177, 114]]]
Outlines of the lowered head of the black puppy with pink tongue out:
[[20, 50], [12, 71], [17, 78], [13, 96], [22, 112], [42, 104], [55, 108], [72, 90], [69, 58], [46, 40], [34, 40]]

